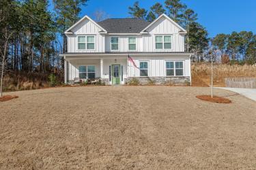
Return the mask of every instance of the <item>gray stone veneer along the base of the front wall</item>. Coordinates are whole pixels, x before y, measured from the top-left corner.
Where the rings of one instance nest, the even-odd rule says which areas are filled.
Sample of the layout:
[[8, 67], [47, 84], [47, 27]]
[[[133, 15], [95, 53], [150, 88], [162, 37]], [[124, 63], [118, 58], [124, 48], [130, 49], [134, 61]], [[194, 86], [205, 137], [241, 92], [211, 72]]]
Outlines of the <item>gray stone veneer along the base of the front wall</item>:
[[147, 84], [156, 84], [156, 85], [177, 85], [177, 86], [190, 86], [190, 78], [189, 77], [134, 77], [134, 78], [126, 78], [124, 81], [128, 84], [132, 80], [139, 80], [139, 84], [147, 85]]

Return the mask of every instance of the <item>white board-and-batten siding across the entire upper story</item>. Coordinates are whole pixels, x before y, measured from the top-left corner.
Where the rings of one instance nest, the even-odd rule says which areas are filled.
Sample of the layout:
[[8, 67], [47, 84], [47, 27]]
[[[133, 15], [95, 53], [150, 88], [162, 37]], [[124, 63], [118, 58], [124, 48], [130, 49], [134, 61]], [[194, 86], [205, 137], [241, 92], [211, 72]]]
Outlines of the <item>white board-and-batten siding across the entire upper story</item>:
[[[104, 35], [94, 22], [83, 20], [72, 29], [74, 34], [67, 34], [68, 52], [111, 52], [111, 37], [119, 37], [119, 50], [115, 52], [131, 52], [128, 50], [128, 38], [136, 37], [136, 50], [132, 52], [184, 52], [184, 35], [180, 29], [165, 17], [160, 18], [147, 29], [148, 34], [143, 35]], [[94, 35], [95, 50], [78, 50], [79, 35]], [[156, 50], [155, 36], [171, 35], [171, 50]]]

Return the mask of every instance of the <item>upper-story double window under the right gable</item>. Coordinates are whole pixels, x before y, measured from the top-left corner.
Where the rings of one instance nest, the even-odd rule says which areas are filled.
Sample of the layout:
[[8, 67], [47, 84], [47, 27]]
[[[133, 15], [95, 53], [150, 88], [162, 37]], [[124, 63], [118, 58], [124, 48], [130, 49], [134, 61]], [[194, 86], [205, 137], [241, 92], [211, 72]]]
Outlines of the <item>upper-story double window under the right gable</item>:
[[155, 41], [156, 41], [156, 50], [171, 49], [171, 35], [157, 35]]

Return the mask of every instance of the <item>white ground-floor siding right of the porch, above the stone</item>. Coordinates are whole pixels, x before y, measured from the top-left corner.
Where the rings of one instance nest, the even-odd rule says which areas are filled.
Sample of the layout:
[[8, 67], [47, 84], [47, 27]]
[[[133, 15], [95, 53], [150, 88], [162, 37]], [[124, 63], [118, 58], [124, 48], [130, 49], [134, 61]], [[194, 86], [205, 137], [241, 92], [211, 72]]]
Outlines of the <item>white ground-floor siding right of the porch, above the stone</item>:
[[[166, 61], [183, 61], [184, 75], [190, 76], [190, 59], [189, 56], [132, 56], [134, 63], [139, 67], [140, 61], [148, 62], [149, 77], [165, 77]], [[140, 70], [128, 62], [128, 77], [140, 77]]]

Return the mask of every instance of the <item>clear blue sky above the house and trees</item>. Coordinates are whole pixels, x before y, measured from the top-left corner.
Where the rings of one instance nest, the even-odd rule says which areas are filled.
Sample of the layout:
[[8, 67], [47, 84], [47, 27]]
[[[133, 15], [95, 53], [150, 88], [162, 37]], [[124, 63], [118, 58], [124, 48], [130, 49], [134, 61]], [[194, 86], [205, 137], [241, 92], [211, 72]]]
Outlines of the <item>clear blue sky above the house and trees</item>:
[[[128, 6], [136, 0], [89, 0], [81, 16], [93, 18], [96, 10], [104, 10], [111, 18], [129, 17]], [[139, 0], [141, 7], [149, 9], [154, 3], [164, 0]], [[210, 37], [232, 31], [256, 33], [256, 0], [182, 0], [198, 14], [198, 22], [205, 27]]]

